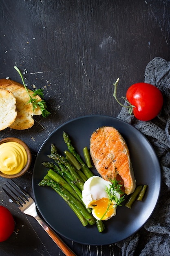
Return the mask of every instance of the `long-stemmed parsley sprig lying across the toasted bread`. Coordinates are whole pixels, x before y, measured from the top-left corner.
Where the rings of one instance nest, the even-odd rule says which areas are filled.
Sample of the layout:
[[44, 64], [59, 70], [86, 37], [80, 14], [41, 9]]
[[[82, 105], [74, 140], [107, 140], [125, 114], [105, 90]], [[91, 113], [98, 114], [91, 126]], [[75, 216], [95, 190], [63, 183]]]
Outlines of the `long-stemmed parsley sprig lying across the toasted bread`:
[[15, 68], [15, 70], [18, 71], [18, 73], [19, 73], [20, 76], [21, 76], [21, 79], [22, 79], [22, 83], [23, 83], [23, 85], [24, 85], [24, 88], [25, 88], [27, 94], [29, 95], [29, 101], [28, 101], [27, 103], [32, 103], [32, 105], [33, 105], [33, 112], [34, 112], [35, 108], [38, 108], [38, 107], [39, 107], [40, 110], [41, 110], [42, 117], [47, 117], [47, 116], [50, 114], [50, 112], [46, 109], [46, 108], [47, 108], [46, 102], [45, 102], [44, 99], [43, 99], [43, 98], [44, 98], [43, 89], [33, 90], [33, 96], [36, 96], [36, 95], [40, 96], [40, 97], [42, 98], [41, 101], [37, 101], [38, 99], [32, 98], [31, 95], [29, 94], [29, 90], [26, 88], [26, 85], [25, 85], [25, 83], [24, 83], [23, 76], [22, 76], [22, 74], [21, 74], [19, 68], [16, 67], [16, 66], [14, 66], [14, 68]]

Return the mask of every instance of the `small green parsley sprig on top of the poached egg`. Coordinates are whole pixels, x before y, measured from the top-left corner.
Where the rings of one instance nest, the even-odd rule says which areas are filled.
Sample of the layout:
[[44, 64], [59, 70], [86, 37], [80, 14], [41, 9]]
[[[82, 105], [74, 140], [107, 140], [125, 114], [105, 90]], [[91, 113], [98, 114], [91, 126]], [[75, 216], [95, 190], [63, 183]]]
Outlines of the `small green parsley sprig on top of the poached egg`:
[[[106, 215], [106, 213], [110, 210], [110, 209], [113, 209], [115, 207], [117, 207], [118, 205], [121, 206], [121, 203], [125, 200], [124, 198], [124, 192], [122, 191], [121, 189], [121, 184], [120, 181], [117, 181], [116, 179], [114, 180], [110, 180], [111, 184], [110, 184], [110, 187], [107, 187], [106, 186], [106, 193], [108, 194], [108, 198], [109, 198], [109, 202], [108, 202], [108, 206], [107, 206], [107, 209], [104, 213], [104, 215], [102, 216], [102, 218], [100, 220], [103, 219], [103, 217]], [[123, 195], [123, 196], [120, 196], [120, 197], [117, 197], [117, 193], [119, 193], [120, 195]], [[109, 209], [112, 201], [115, 201], [115, 204], [113, 204], [113, 207]]]

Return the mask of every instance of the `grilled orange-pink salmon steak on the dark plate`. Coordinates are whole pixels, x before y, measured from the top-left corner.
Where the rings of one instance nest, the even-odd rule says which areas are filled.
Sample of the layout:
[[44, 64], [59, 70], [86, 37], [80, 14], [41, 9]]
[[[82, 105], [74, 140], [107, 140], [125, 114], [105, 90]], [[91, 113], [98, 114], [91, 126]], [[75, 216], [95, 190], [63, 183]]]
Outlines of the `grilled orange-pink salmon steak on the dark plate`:
[[91, 135], [90, 153], [97, 172], [104, 180], [120, 180], [127, 195], [135, 190], [128, 146], [117, 129], [103, 126], [95, 130]]

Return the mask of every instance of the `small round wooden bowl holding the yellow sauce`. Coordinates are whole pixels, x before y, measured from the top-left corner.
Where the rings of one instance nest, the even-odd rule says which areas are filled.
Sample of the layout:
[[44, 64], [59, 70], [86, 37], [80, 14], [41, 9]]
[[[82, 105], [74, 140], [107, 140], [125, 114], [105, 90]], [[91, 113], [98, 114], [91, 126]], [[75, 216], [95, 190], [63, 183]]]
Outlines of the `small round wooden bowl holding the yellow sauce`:
[[26, 171], [29, 170], [29, 167], [31, 165], [32, 155], [31, 155], [31, 151], [30, 151], [29, 147], [21, 139], [14, 138], [14, 137], [8, 137], [8, 138], [1, 139], [0, 144], [2, 144], [4, 142], [8, 142], [8, 141], [18, 142], [20, 145], [22, 145], [25, 148], [26, 153], [27, 153], [27, 162], [26, 162], [25, 167], [22, 169], [22, 171], [20, 171], [19, 173], [16, 173], [16, 174], [9, 174], [9, 175], [2, 173], [0, 171], [1, 177], [13, 179], [13, 178], [18, 178], [18, 177], [22, 176], [24, 173], [26, 173]]

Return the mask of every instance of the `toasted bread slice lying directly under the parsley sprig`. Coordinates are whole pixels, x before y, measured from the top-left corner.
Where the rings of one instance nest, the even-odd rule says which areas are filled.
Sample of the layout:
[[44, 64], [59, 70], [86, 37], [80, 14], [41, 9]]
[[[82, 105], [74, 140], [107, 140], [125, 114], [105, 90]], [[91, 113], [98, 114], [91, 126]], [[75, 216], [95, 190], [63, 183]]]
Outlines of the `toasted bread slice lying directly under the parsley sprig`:
[[[35, 108], [33, 112], [33, 105], [32, 103], [28, 103], [29, 95], [24, 86], [10, 79], [0, 79], [0, 88], [11, 91], [16, 98], [17, 117], [13, 124], [10, 125], [10, 128], [16, 130], [31, 128], [34, 124], [33, 115], [41, 115], [41, 110], [38, 107]], [[33, 91], [29, 90], [29, 93], [32, 98], [41, 101], [41, 98], [38, 95], [35, 97], [33, 96]]]

